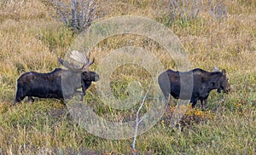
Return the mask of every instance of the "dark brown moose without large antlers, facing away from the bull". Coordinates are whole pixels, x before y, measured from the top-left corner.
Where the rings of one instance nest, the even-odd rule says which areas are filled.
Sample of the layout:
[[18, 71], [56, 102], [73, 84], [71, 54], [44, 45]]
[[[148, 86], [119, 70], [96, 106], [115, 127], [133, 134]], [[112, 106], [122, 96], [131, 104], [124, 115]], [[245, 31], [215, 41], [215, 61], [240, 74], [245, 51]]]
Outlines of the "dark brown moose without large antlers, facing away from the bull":
[[[183, 76], [183, 82], [181, 83], [181, 76]], [[189, 79], [193, 78], [191, 90], [191, 95], [180, 96], [181, 93], [181, 84], [183, 84], [183, 90], [189, 87]], [[230, 84], [226, 77], [226, 71], [219, 70], [215, 72], [207, 72], [200, 68], [196, 68], [189, 72], [176, 72], [172, 70], [167, 70], [162, 72], [158, 78], [158, 83], [160, 89], [168, 100], [169, 95], [171, 94], [175, 99], [181, 100], [190, 100], [192, 107], [195, 106], [197, 100], [201, 100], [201, 109], [205, 110], [207, 106], [207, 98], [212, 91], [212, 89], [217, 89], [218, 93], [222, 90], [224, 93], [230, 91]]]

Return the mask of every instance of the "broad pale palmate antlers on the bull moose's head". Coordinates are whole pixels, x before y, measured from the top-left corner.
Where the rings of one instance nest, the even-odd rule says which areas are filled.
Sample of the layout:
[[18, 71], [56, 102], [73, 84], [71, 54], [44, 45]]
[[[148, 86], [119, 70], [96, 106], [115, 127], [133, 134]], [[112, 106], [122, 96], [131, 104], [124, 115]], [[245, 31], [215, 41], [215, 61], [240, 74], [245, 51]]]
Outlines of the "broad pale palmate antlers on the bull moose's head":
[[83, 64], [82, 67], [79, 67], [77, 65], [74, 65], [73, 63], [68, 62], [67, 60], [61, 60], [61, 58], [58, 59], [62, 66], [65, 66], [67, 69], [73, 71], [87, 71], [87, 67], [94, 62], [94, 59], [90, 61], [86, 55], [77, 50], [73, 50], [70, 53], [69, 58]]

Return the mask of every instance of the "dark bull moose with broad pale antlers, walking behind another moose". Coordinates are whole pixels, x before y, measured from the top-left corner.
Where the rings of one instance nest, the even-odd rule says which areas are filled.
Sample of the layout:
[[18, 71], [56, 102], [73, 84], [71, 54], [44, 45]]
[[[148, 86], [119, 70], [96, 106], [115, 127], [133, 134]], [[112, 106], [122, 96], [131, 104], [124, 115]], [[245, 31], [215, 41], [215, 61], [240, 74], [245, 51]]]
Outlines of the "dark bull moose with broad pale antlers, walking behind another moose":
[[[59, 100], [70, 99], [73, 95], [81, 95], [82, 99], [85, 90], [90, 87], [92, 82], [99, 80], [96, 72], [89, 72], [90, 66], [94, 60], [73, 50], [69, 55], [71, 60], [83, 63], [82, 67], [74, 65], [68, 60], [59, 62], [67, 69], [55, 68], [54, 71], [48, 73], [26, 72], [17, 80], [17, 92], [14, 104], [23, 100], [26, 96], [28, 101], [33, 102], [32, 97], [39, 98], [55, 98]], [[78, 89], [82, 88], [82, 92]]]

